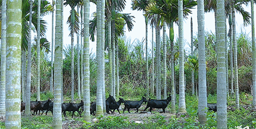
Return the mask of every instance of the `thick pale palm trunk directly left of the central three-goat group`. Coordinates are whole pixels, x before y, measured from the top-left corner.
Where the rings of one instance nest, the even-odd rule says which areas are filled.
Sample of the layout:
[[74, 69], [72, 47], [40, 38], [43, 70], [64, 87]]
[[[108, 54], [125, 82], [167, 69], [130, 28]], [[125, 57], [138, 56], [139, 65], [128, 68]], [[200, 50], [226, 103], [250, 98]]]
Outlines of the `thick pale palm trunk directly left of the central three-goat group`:
[[96, 100], [96, 115], [103, 115], [103, 102], [102, 102], [102, 24], [101, 22], [101, 0], [97, 0], [97, 100]]

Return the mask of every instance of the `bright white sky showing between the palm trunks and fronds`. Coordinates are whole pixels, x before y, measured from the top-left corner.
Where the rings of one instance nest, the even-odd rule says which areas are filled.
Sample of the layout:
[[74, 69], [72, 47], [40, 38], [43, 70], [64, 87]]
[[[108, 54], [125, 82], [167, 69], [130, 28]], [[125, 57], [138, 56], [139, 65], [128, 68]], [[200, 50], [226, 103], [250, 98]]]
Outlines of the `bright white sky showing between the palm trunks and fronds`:
[[[51, 3], [51, 1], [50, 1]], [[135, 41], [135, 40], [139, 40], [141, 41], [142, 39], [146, 38], [146, 24], [145, 24], [145, 19], [142, 15], [142, 11], [133, 11], [131, 9], [131, 3], [132, 0], [126, 0], [126, 7], [125, 10], [122, 13], [131, 13], [131, 15], [135, 16], [135, 18], [133, 19], [135, 22], [134, 27], [132, 29], [132, 31], [128, 31], [127, 29], [125, 30], [125, 36], [126, 38], [131, 39], [131, 41]], [[254, 5], [255, 6], [255, 5]], [[251, 13], [251, 4], [249, 4], [247, 7], [243, 6], [245, 8], [245, 10], [247, 12]], [[68, 28], [68, 24], [67, 23], [67, 19], [68, 16], [70, 15], [70, 10], [71, 8], [68, 6], [64, 6], [64, 17], [63, 17], [63, 46], [64, 48], [67, 47], [67, 45], [71, 45], [71, 37], [69, 36], [70, 30]], [[254, 12], [255, 12], [255, 7], [254, 7]], [[90, 3], [90, 14], [92, 14], [93, 12], [96, 11], [96, 5], [94, 5], [93, 3]], [[184, 19], [183, 21], [183, 32], [184, 32], [184, 44], [185, 44], [185, 50], [186, 51], [190, 51], [190, 47], [189, 44], [191, 42], [190, 39], [190, 19], [193, 19], [193, 35], [195, 36], [197, 34], [197, 8], [195, 6], [194, 9], [191, 10], [192, 13], [189, 14], [187, 16], [188, 19]], [[54, 17], [55, 17], [55, 12], [54, 12]], [[50, 42], [52, 42], [52, 14], [46, 15], [43, 18], [44, 20], [47, 21], [47, 31], [46, 31], [46, 38], [47, 40], [49, 40]], [[92, 19], [91, 15], [90, 15], [90, 19]], [[55, 22], [55, 21], [54, 21]], [[210, 12], [210, 13], [205, 13], [205, 31], [209, 31], [209, 32], [215, 32], [215, 20], [214, 20], [214, 13]], [[54, 23], [55, 24], [55, 23]], [[229, 28], [229, 25], [227, 26], [227, 28]], [[248, 27], [244, 27], [243, 26], [243, 17], [241, 14], [236, 13], [236, 30], [237, 33], [240, 32], [244, 32], [244, 33], [249, 33], [249, 36], [251, 37], [251, 26], [249, 25]], [[161, 30], [161, 37], [163, 30]], [[166, 28], [166, 33], [167, 36], [169, 37], [169, 29]], [[155, 41], [155, 29], [154, 29], [154, 41]], [[34, 36], [32, 36], [34, 37]], [[95, 36], [96, 37], [96, 36]], [[74, 44], [77, 44], [77, 38], [76, 35], [74, 37]], [[174, 24], [174, 41], [176, 41], [178, 39], [178, 25]], [[149, 54], [151, 53], [151, 41], [152, 41], [152, 28], [150, 27], [150, 25], [148, 25], [148, 50], [149, 50]], [[90, 52], [92, 51], [93, 53], [96, 52], [96, 44], [97, 42], [92, 42], [90, 40]]]

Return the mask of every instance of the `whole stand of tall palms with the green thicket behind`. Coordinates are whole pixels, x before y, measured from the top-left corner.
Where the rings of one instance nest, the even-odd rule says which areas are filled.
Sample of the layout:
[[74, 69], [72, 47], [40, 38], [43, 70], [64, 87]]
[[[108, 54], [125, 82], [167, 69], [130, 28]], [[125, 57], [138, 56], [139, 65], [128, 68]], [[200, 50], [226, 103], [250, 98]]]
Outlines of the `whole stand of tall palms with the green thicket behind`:
[[[96, 114], [99, 116], [106, 112], [106, 93], [114, 98], [131, 94], [156, 96], [156, 99], [166, 99], [167, 93], [175, 98], [175, 93], [178, 93], [178, 112], [183, 114], [186, 113], [185, 90], [198, 97], [198, 120], [202, 125], [206, 123], [204, 109], [207, 107], [207, 93], [217, 93], [217, 126], [227, 128], [229, 89], [232, 95], [235, 90], [237, 109], [238, 91], [252, 92], [255, 89], [254, 31], [250, 39], [244, 33], [237, 35], [235, 28], [235, 10], [243, 15], [245, 25], [250, 24], [251, 15], [243, 10], [242, 5], [251, 3], [253, 11], [253, 1], [134, 0], [132, 9], [144, 12], [146, 38], [133, 42], [126, 39], [124, 33], [125, 27], [132, 30], [134, 22], [134, 16], [121, 13], [125, 1], [91, 2], [97, 3], [97, 12], [89, 21], [87, 0], [57, 0], [52, 1], [52, 5], [45, 0], [1, 1], [0, 114], [6, 117], [6, 128], [20, 128], [20, 117], [15, 117], [20, 116], [20, 96], [26, 101], [25, 114], [31, 115], [30, 93], [36, 92], [37, 100], [40, 100], [40, 92], [49, 90], [54, 93], [53, 128], [61, 128], [63, 94], [71, 94], [71, 101], [74, 101], [76, 91], [78, 99], [83, 98], [84, 120], [90, 122], [90, 96], [97, 98]], [[191, 35], [191, 53], [186, 53], [183, 48], [183, 19], [196, 5], [198, 36]], [[67, 21], [71, 46], [66, 49], [63, 49], [63, 30], [66, 29], [63, 28], [63, 6], [71, 7]], [[215, 13], [216, 34], [204, 32], [204, 15], [209, 11]], [[48, 13], [52, 13], [52, 18], [55, 13], [56, 19], [55, 27], [52, 22], [55, 32], [53, 29], [51, 49], [50, 42], [44, 38], [46, 22], [41, 19]], [[229, 19], [228, 34], [225, 19]], [[156, 40], [151, 40], [151, 56], [148, 50], [148, 23], [156, 32]], [[174, 23], [179, 25], [178, 41], [174, 41]], [[170, 28], [169, 37], [166, 27]], [[252, 12], [252, 30], [253, 27]], [[160, 36], [161, 28], [163, 36]], [[37, 32], [33, 45], [32, 30]], [[94, 41], [95, 34], [97, 54], [93, 55], [89, 54], [89, 38]], [[143, 44], [146, 44], [145, 48]], [[48, 57], [50, 51], [51, 62]], [[105, 59], [109, 62], [105, 63]], [[171, 113], [176, 113], [175, 99], [172, 99], [171, 105]], [[9, 114], [10, 111], [16, 114]]]

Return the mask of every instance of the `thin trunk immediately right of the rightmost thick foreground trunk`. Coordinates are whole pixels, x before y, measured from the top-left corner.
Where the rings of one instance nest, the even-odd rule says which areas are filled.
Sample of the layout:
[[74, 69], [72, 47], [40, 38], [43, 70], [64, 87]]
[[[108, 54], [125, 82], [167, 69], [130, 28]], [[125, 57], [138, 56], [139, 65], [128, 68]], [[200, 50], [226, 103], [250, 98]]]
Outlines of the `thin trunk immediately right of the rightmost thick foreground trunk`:
[[[225, 11], [226, 14], [226, 11]], [[227, 82], [227, 96], [229, 97], [229, 92], [228, 92], [228, 38], [227, 38], [227, 17], [225, 15], [225, 49], [226, 49], [226, 54], [225, 54], [225, 58], [226, 58], [226, 82]]]

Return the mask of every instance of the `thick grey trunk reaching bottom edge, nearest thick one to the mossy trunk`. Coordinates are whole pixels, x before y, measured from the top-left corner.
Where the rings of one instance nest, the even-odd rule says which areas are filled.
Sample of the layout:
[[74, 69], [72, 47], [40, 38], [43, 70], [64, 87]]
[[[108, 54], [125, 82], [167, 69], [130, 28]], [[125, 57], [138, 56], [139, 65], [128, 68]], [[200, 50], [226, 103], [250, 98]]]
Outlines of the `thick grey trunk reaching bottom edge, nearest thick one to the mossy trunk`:
[[62, 128], [61, 118], [61, 3], [56, 0], [56, 20], [55, 20], [55, 53], [54, 53], [54, 104], [53, 104], [53, 128]]

